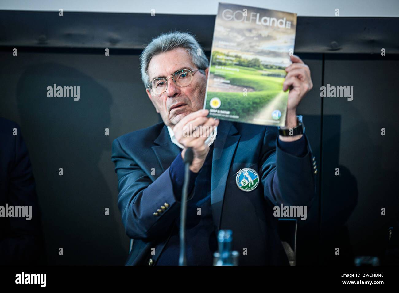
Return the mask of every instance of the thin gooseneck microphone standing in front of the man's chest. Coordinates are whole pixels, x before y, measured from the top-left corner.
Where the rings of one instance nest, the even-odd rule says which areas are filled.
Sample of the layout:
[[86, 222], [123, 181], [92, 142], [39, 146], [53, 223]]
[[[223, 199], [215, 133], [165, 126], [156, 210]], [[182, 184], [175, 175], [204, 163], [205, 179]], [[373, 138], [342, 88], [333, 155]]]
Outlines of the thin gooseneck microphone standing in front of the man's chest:
[[194, 159], [193, 149], [188, 147], [184, 153], [184, 182], [182, 191], [182, 205], [180, 208], [180, 256], [179, 265], [186, 265], [186, 215], [187, 215], [187, 192], [190, 180], [190, 165]]

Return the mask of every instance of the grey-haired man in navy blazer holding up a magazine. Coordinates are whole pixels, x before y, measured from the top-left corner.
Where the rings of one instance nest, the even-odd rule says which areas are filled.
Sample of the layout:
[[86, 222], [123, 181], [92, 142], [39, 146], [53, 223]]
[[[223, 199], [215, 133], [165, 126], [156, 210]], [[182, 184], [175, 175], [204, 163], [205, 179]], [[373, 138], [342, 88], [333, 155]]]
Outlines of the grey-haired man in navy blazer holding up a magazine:
[[[199, 53], [198, 53], [199, 52]], [[141, 73], [148, 98], [163, 123], [125, 134], [113, 142], [119, 180], [118, 206], [133, 247], [126, 265], [177, 265], [184, 153], [190, 166], [186, 219], [188, 265], [212, 265], [220, 229], [233, 231], [239, 265], [288, 264], [273, 207], [309, 206], [317, 170], [298, 123], [296, 108], [312, 88], [310, 70], [291, 56], [283, 90], [290, 89], [285, 129], [207, 117], [203, 110], [209, 62], [188, 33], [167, 33], [142, 52]], [[202, 126], [208, 136], [185, 135]], [[240, 170], [258, 178], [245, 191]], [[241, 172], [243, 173], [243, 172]]]

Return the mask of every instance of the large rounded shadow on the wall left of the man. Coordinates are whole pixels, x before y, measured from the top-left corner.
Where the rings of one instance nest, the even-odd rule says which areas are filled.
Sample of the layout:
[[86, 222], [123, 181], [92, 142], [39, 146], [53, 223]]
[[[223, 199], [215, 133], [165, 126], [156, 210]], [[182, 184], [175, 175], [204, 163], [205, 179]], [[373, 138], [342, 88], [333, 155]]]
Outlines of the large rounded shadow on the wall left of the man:
[[[79, 100], [48, 97], [47, 87], [54, 84], [76, 87], [75, 93], [80, 87]], [[17, 102], [37, 184], [47, 263], [123, 265], [128, 244], [117, 198], [99, 168], [101, 153], [111, 147], [105, 136], [111, 94], [76, 69], [41, 63], [22, 74]], [[115, 176], [113, 169], [109, 176]]]

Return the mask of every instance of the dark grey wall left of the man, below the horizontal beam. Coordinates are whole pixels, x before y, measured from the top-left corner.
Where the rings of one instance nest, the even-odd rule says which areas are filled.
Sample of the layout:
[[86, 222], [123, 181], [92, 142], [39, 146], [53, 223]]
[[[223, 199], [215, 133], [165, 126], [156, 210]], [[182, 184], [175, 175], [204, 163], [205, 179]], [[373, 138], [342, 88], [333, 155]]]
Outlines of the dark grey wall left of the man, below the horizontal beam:
[[[0, 116], [21, 125], [30, 151], [49, 264], [123, 264], [128, 238], [117, 207], [111, 143], [158, 122], [140, 84], [138, 57], [8, 55], [0, 53]], [[80, 86], [80, 100], [47, 98], [44, 90], [54, 83]]]

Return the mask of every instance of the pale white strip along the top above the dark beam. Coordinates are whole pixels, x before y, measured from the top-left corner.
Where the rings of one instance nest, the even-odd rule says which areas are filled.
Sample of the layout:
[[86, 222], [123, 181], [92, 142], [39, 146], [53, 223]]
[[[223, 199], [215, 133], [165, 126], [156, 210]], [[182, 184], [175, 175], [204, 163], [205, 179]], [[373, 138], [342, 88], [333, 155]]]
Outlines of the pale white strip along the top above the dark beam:
[[[217, 0], [0, 0], [0, 10], [41, 10], [159, 14], [212, 14]], [[274, 10], [296, 12], [299, 16], [399, 17], [399, 0], [221, 0]]]

